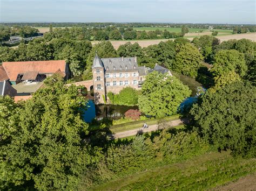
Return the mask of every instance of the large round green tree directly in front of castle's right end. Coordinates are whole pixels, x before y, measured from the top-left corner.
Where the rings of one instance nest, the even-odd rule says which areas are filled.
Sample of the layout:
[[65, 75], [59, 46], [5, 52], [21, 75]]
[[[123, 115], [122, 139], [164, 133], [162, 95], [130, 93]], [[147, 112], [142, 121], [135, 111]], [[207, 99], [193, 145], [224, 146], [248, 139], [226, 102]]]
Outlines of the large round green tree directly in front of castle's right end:
[[138, 100], [139, 110], [153, 117], [173, 115], [190, 94], [191, 90], [176, 77], [152, 72], [143, 83]]

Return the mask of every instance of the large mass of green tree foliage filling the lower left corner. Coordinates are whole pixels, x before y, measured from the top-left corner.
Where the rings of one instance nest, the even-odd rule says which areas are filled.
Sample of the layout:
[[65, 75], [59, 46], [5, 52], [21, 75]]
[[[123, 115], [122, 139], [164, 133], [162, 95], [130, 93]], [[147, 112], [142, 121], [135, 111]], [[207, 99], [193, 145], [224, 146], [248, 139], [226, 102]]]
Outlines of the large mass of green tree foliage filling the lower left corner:
[[76, 188], [93, 154], [82, 141], [88, 125], [80, 110], [86, 101], [78, 93], [54, 74], [25, 102], [0, 97], [2, 186]]

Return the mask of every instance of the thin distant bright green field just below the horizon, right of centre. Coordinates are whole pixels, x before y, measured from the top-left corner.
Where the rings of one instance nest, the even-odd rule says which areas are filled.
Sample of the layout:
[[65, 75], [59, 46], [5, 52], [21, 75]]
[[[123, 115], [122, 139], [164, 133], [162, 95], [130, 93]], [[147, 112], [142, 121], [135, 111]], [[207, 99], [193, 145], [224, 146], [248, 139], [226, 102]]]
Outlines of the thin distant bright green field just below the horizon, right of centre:
[[[167, 30], [169, 32], [181, 32], [181, 28], [179, 27], [134, 27], [134, 30], [137, 31], [155, 31], [155, 30], [160, 30], [160, 31], [164, 31]], [[213, 29], [214, 30], [214, 29]], [[210, 30], [208, 29], [200, 29], [200, 28], [188, 28], [189, 32], [210, 32]], [[222, 30], [222, 29], [217, 29], [214, 31], [218, 31], [218, 32], [225, 32], [225, 33], [232, 33], [233, 30]]]

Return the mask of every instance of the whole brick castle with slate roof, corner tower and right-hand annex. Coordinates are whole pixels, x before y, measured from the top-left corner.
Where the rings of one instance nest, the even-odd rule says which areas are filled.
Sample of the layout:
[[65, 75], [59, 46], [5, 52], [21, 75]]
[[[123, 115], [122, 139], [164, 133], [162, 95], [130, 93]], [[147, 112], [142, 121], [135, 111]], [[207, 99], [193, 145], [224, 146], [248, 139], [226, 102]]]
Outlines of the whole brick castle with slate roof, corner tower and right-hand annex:
[[95, 103], [104, 103], [107, 93], [119, 93], [124, 87], [140, 89], [145, 77], [154, 70], [172, 75], [170, 70], [156, 65], [154, 69], [138, 66], [137, 57], [102, 58], [96, 53], [92, 65]]

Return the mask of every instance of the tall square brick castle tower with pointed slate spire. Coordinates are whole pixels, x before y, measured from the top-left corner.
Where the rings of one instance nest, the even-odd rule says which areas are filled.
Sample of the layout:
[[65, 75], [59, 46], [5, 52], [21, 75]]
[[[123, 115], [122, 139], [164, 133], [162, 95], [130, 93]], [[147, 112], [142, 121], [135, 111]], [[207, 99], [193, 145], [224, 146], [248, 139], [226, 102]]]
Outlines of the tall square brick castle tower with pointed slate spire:
[[92, 64], [92, 79], [95, 104], [104, 103], [106, 99], [105, 73], [103, 62], [97, 53]]

